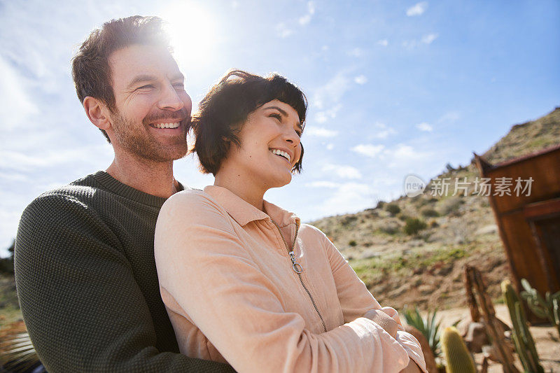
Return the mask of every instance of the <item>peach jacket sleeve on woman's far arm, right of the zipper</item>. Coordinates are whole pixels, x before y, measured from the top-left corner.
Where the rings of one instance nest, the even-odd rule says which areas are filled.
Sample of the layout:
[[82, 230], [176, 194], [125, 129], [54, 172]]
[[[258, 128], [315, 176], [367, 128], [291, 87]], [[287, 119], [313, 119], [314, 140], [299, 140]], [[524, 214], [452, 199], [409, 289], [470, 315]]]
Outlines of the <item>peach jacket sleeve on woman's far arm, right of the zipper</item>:
[[370, 293], [370, 290], [367, 290], [365, 283], [358, 278], [356, 272], [350, 267], [348, 261], [344, 259], [330, 239], [320, 230], [317, 231], [318, 234], [321, 234], [323, 246], [332, 269], [332, 275], [335, 278], [335, 286], [340, 306], [342, 307], [344, 322], [348, 323], [355, 320], [363, 316], [370, 309], [381, 309], [381, 311], [384, 311], [398, 323], [397, 342], [407, 351], [409, 358], [412, 358], [423, 372], [428, 372], [421, 346], [416, 338], [405, 332], [405, 329], [402, 328], [398, 312], [391, 307], [381, 307], [379, 302]]

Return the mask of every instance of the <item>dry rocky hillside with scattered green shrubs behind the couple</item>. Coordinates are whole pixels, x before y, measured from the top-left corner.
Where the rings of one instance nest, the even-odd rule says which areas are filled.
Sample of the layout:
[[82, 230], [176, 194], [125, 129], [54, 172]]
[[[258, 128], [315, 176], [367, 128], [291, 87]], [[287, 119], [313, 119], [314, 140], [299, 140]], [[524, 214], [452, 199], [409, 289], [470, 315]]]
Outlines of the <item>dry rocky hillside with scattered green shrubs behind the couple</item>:
[[[514, 125], [483, 157], [496, 164], [560, 144], [560, 108], [544, 117]], [[437, 178], [472, 183], [479, 176], [474, 162]], [[436, 179], [437, 179], [436, 178]], [[508, 275], [505, 253], [487, 197], [458, 193], [422, 195], [379, 203], [374, 209], [311, 222], [330, 237], [381, 304], [423, 309], [466, 304], [463, 265], [478, 267], [491, 295]], [[451, 184], [453, 185], [453, 184]]]

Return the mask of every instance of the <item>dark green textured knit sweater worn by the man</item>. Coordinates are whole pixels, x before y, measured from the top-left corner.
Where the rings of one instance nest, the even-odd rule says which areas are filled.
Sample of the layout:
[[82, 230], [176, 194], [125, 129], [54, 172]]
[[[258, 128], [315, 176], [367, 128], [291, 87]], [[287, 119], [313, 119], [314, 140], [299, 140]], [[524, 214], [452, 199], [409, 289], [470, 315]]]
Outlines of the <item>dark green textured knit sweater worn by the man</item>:
[[234, 372], [179, 353], [153, 257], [164, 202], [99, 171], [25, 209], [15, 281], [48, 372]]

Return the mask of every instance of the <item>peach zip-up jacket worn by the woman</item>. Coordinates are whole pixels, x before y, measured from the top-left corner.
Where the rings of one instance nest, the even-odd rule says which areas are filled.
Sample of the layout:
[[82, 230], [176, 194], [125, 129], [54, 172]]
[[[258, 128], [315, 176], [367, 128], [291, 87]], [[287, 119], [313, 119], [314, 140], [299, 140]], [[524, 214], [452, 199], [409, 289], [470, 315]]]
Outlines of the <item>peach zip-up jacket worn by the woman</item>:
[[155, 261], [181, 353], [241, 373], [399, 372], [409, 358], [426, 372], [397, 311], [382, 309], [399, 324], [395, 339], [361, 317], [379, 303], [325, 234], [307, 224], [294, 250], [300, 279], [272, 223], [291, 248], [300, 220], [264, 207], [267, 213], [218, 186], [176, 193], [163, 205]]

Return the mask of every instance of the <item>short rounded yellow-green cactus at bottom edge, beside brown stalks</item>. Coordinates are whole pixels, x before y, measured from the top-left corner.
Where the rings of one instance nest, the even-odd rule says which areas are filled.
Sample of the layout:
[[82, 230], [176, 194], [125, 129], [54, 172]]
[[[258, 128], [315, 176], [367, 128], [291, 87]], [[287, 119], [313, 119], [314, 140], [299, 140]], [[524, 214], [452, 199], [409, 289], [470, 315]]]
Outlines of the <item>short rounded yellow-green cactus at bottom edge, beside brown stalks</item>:
[[442, 350], [445, 356], [445, 372], [476, 373], [475, 362], [459, 334], [457, 328], [445, 328], [442, 336]]

